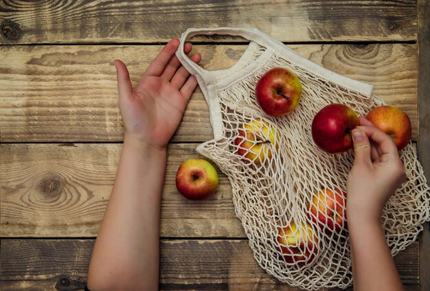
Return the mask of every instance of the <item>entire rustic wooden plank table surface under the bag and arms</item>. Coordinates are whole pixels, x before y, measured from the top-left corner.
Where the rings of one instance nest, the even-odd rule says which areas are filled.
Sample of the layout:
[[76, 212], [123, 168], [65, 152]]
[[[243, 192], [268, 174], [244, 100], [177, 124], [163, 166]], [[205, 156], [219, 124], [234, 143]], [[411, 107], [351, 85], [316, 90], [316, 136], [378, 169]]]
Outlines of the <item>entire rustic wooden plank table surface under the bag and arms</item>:
[[[1, 1], [0, 289], [84, 288], [122, 148], [113, 60], [128, 65], [135, 84], [188, 27], [256, 27], [327, 69], [374, 84], [411, 118], [429, 178], [429, 14], [425, 0]], [[229, 37], [192, 42], [207, 69], [230, 67], [247, 45]], [[223, 173], [209, 200], [178, 194], [177, 168], [200, 157], [196, 146], [212, 137], [196, 89], [168, 148], [160, 289], [299, 290], [253, 259]], [[429, 254], [427, 223], [395, 257], [406, 290], [430, 290]]]

